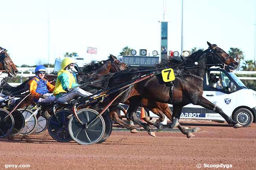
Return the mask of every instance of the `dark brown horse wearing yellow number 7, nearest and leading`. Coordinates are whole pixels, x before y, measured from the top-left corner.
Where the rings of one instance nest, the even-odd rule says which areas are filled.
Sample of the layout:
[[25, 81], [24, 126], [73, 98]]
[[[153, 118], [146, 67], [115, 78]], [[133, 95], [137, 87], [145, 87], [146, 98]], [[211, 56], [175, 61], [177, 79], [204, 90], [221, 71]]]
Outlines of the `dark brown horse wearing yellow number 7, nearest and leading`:
[[[217, 45], [212, 45], [209, 42], [208, 45], [209, 48], [207, 50], [203, 51], [202, 53], [195, 53], [191, 55], [191, 57], [187, 57], [181, 62], [174, 62], [173, 60], [169, 60], [158, 65], [158, 68], [174, 68], [176, 79], [171, 84], [163, 82], [160, 74], [152, 76], [147, 80], [135, 84], [115, 102], [113, 102], [113, 105], [118, 104], [119, 102], [124, 102], [128, 99], [130, 101], [130, 107], [127, 110], [128, 114], [126, 117], [143, 126], [150, 135], [153, 133], [150, 126], [135, 116], [135, 112], [141, 105], [143, 98], [150, 99], [151, 101], [173, 104], [173, 116], [175, 118], [171, 128], [174, 128], [178, 125], [178, 120], [180, 118], [182, 108], [189, 103], [200, 105], [204, 108], [208, 108], [219, 113], [224, 117], [228, 124], [232, 124], [234, 128], [241, 127], [240, 124], [228, 117], [221, 110], [221, 108], [202, 97], [202, 79], [208, 67], [224, 67], [228, 65], [236, 68], [237, 66], [237, 62], [225, 51], [217, 47]], [[105, 77], [102, 77], [102, 80], [93, 82], [93, 84], [88, 84], [88, 86], [92, 89], [99, 87], [111, 88], [147, 73], [137, 73], [137, 71], [137, 69], [129, 69], [121, 73], [109, 74]], [[121, 91], [109, 95], [109, 97], [106, 98], [103, 103], [98, 103], [95, 108], [103, 108], [104, 105], [108, 104], [108, 102], [110, 102]], [[167, 115], [167, 117], [169, 116]]]

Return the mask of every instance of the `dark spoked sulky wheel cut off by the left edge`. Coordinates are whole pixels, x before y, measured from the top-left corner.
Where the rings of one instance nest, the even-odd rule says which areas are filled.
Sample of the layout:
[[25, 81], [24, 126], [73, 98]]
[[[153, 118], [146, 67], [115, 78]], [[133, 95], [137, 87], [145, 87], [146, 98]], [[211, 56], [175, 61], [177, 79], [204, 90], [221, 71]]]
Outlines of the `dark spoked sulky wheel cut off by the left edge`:
[[7, 110], [0, 108], [0, 138], [9, 135], [14, 126], [14, 119], [12, 115], [9, 115], [6, 119], [4, 119], [8, 113], [9, 112]]

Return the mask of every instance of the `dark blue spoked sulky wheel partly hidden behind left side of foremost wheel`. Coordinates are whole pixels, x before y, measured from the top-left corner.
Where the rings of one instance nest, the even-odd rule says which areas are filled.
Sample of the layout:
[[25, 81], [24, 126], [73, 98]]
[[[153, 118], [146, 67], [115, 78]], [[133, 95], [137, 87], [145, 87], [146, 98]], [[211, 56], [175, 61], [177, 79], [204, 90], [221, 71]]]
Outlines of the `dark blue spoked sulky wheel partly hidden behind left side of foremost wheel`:
[[56, 114], [52, 115], [48, 121], [48, 132], [53, 139], [59, 142], [69, 142], [72, 138], [69, 135], [67, 117], [73, 114], [69, 110], [58, 110]]

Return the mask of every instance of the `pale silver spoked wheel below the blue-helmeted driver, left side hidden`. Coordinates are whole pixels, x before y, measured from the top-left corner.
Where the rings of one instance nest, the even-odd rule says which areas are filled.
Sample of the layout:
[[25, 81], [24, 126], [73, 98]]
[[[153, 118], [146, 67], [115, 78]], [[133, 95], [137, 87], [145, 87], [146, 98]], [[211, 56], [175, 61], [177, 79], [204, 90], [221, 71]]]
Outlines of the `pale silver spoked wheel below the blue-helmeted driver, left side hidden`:
[[37, 126], [37, 117], [33, 114], [32, 110], [20, 109], [19, 111], [25, 118], [25, 126], [21, 130], [20, 135], [29, 135], [35, 130], [35, 127]]

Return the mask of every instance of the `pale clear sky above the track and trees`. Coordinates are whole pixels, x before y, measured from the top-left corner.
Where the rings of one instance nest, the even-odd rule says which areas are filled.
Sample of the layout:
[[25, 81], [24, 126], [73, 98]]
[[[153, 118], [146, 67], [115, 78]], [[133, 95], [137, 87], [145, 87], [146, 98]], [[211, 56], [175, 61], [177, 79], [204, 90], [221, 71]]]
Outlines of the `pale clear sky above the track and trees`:
[[[50, 63], [65, 52], [95, 60], [119, 55], [128, 46], [160, 51], [160, 24], [166, 4], [168, 49], [180, 51], [181, 0], [49, 0]], [[47, 0], [1, 2], [0, 46], [13, 62], [48, 62]], [[256, 0], [184, 0], [184, 50], [240, 48], [254, 60]], [[98, 48], [97, 55], [86, 53]]]

